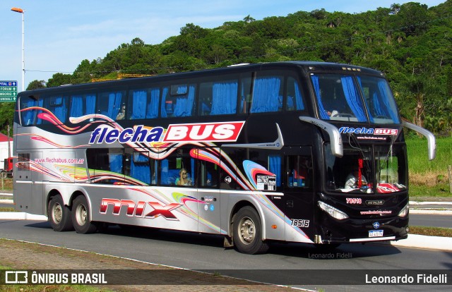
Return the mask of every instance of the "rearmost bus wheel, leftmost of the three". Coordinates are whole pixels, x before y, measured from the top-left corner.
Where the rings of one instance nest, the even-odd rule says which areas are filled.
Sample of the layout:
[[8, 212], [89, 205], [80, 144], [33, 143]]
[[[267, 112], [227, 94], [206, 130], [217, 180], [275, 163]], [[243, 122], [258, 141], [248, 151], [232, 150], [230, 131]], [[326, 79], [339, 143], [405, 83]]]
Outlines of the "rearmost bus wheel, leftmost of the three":
[[54, 231], [73, 231], [71, 209], [64, 205], [61, 195], [54, 195], [49, 201], [47, 216]]

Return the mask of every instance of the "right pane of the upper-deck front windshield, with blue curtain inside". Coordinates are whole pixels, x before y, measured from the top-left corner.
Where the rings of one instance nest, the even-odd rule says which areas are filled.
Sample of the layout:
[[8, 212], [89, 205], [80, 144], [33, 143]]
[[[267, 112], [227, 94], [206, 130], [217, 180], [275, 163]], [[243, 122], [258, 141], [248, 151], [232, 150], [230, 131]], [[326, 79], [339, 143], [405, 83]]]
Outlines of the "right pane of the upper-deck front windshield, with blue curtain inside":
[[369, 118], [372, 123], [400, 123], [396, 102], [388, 83], [383, 78], [358, 76]]

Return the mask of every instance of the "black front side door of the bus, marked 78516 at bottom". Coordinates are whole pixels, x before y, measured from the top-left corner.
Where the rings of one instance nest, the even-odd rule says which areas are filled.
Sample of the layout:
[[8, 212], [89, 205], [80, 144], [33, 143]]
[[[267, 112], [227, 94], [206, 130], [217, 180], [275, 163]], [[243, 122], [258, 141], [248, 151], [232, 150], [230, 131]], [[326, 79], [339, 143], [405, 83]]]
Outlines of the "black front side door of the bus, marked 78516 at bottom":
[[285, 240], [297, 241], [293, 231], [302, 236], [314, 236], [314, 164], [309, 146], [284, 147], [282, 198], [283, 212], [290, 228], [286, 228]]

